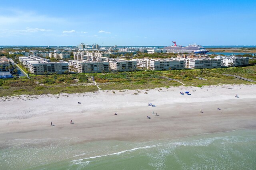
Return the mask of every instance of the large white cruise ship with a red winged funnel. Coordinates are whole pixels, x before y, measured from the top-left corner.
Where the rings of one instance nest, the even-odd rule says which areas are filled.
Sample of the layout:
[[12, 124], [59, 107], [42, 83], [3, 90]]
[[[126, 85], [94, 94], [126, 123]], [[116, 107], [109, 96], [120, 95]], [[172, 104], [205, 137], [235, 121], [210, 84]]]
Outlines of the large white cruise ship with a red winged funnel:
[[204, 47], [202, 47], [201, 45], [188, 45], [188, 46], [178, 46], [176, 45], [176, 41], [172, 41], [172, 43], [174, 43], [174, 45], [172, 46], [168, 46], [168, 47], [164, 47], [164, 49], [166, 49], [167, 53], [195, 53], [195, 54], [206, 54], [209, 51], [207, 51], [206, 49], [204, 49]]

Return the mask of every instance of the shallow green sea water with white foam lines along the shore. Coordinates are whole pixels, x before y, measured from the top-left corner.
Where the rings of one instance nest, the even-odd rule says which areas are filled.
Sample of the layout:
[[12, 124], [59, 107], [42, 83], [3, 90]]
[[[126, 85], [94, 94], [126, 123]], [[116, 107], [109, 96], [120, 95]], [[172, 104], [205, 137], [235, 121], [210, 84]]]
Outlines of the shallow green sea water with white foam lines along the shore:
[[0, 143], [1, 169], [255, 169], [256, 130], [150, 142], [82, 139]]

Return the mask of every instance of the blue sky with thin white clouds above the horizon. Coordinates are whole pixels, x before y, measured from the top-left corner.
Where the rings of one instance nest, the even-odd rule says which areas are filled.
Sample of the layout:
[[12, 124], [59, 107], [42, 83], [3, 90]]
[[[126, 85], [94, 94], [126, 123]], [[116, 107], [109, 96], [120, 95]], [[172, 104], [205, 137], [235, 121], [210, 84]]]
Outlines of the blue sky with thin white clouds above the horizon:
[[256, 45], [256, 0], [0, 0], [0, 45]]

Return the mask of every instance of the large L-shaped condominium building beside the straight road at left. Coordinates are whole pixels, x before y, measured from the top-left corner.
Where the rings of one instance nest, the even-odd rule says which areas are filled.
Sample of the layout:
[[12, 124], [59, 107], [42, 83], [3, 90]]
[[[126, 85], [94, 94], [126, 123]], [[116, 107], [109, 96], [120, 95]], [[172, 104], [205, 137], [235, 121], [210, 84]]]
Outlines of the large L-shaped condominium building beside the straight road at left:
[[40, 75], [45, 72], [57, 74], [64, 74], [68, 70], [68, 62], [59, 61], [59, 62], [49, 62], [34, 57], [19, 57], [19, 61], [28, 68], [32, 74]]

